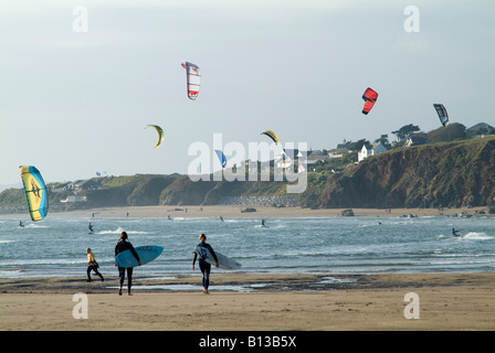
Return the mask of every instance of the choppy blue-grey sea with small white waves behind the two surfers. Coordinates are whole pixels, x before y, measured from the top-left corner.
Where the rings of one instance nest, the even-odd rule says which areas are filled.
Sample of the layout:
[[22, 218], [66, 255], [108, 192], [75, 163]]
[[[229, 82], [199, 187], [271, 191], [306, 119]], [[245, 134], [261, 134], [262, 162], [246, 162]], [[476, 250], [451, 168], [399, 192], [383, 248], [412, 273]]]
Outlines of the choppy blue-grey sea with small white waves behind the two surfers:
[[[94, 234], [88, 233], [89, 223]], [[461, 236], [453, 237], [452, 228]], [[156, 260], [135, 270], [147, 277], [193, 275], [193, 249], [200, 233], [214, 250], [242, 264], [236, 271], [246, 274], [495, 270], [494, 217], [281, 217], [266, 218], [262, 226], [259, 217], [49, 215], [39, 222], [0, 216], [0, 278], [85, 277], [87, 247], [99, 271], [116, 276], [114, 250], [123, 231], [135, 247], [165, 248]]]

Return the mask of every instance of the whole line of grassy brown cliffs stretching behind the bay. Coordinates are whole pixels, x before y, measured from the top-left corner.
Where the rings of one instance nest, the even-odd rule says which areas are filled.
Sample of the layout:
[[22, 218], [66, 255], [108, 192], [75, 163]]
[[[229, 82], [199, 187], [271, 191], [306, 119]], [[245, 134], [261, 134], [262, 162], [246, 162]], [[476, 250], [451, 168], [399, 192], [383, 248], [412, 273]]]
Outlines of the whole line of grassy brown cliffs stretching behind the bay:
[[[145, 205], [259, 203], [325, 207], [460, 207], [495, 204], [495, 137], [398, 148], [350, 164], [309, 172], [302, 194], [286, 194], [286, 182], [198, 181], [187, 175], [94, 178], [80, 190], [87, 202], [61, 203], [74, 191], [49, 192], [50, 210]], [[27, 212], [20, 189], [0, 193], [0, 213]]]

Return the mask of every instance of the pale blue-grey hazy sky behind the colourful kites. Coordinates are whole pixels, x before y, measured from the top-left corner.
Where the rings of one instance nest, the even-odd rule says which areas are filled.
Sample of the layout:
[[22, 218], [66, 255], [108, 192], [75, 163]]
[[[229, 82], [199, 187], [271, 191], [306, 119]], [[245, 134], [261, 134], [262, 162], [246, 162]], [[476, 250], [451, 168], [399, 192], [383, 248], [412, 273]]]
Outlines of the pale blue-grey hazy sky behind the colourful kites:
[[[21, 188], [24, 164], [46, 182], [185, 174], [194, 142], [214, 169], [214, 133], [246, 150], [267, 129], [296, 148], [393, 140], [441, 127], [434, 103], [494, 125], [494, 13], [493, 0], [2, 0], [0, 185]], [[147, 125], [165, 131], [158, 149]]]

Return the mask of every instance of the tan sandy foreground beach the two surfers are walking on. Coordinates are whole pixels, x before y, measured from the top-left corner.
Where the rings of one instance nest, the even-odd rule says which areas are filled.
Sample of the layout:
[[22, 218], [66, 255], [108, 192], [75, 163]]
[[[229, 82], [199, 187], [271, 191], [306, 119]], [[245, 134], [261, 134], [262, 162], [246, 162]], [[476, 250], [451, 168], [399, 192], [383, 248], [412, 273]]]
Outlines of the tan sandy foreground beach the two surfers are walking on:
[[[331, 275], [328, 275], [331, 276]], [[337, 275], [343, 285], [318, 289], [324, 275], [213, 274], [211, 293], [134, 290], [118, 296], [117, 278], [1, 279], [0, 330], [14, 331], [344, 331], [494, 330], [495, 274]], [[200, 282], [136, 278], [141, 285]], [[250, 292], [222, 284], [256, 284]], [[406, 299], [408, 293], [417, 299]], [[73, 311], [84, 293], [87, 319]], [[418, 307], [407, 307], [418, 303]], [[409, 309], [408, 309], [409, 308]], [[410, 313], [407, 318], [404, 310]], [[77, 311], [77, 310], [76, 310]], [[77, 313], [82, 313], [77, 311]], [[418, 315], [411, 317], [411, 315]]]

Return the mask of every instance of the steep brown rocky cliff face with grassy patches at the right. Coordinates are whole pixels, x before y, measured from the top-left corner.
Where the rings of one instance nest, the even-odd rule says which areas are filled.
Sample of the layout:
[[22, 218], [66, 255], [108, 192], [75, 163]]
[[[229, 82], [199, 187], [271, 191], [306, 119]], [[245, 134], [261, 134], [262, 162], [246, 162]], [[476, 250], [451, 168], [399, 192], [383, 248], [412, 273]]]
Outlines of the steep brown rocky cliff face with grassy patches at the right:
[[[495, 138], [392, 150], [329, 176], [319, 207], [484, 206], [495, 197]], [[315, 204], [307, 204], [315, 206]]]

